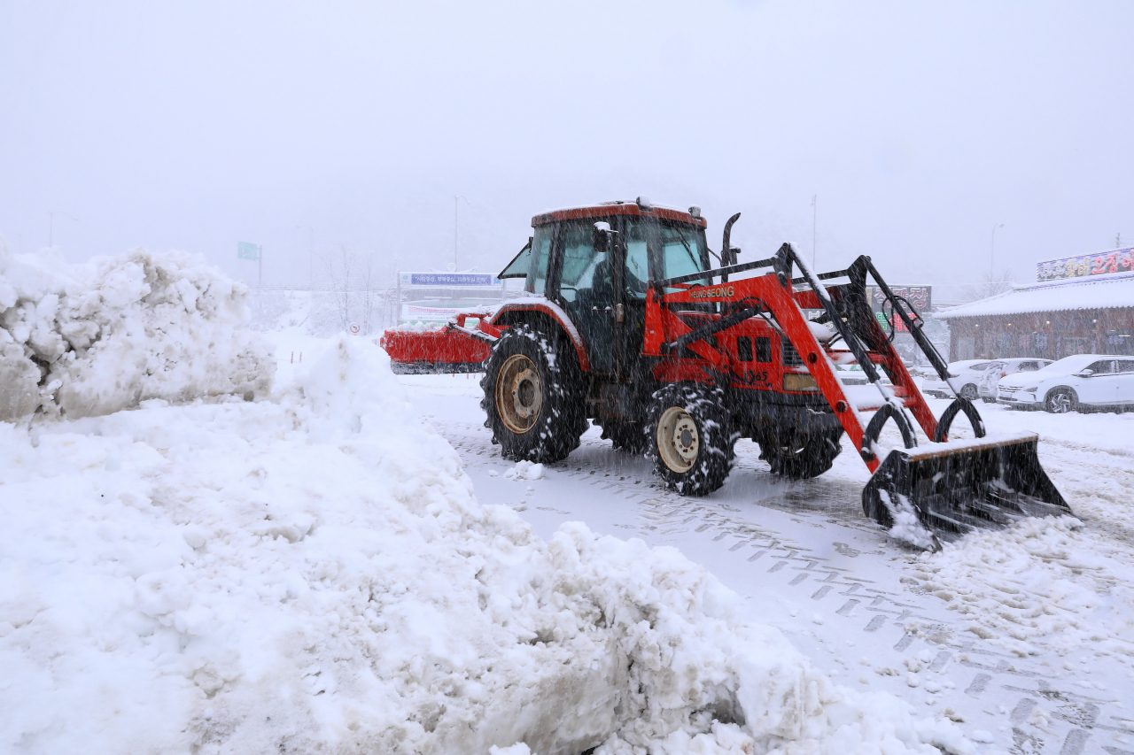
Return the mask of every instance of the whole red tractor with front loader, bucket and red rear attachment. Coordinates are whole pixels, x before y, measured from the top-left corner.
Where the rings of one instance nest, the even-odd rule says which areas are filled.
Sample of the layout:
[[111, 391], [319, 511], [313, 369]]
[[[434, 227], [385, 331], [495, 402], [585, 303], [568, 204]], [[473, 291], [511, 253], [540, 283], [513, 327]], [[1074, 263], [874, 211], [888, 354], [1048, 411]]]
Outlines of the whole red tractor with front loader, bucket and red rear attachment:
[[[846, 433], [873, 473], [863, 510], [886, 527], [916, 515], [954, 534], [1069, 512], [1036, 435], [985, 438], [959, 395], [934, 418], [868, 303], [868, 277], [947, 381], [945, 360], [870, 257], [815, 274], [785, 244], [738, 264], [738, 218], [716, 255], [699, 207], [640, 198], [536, 215], [499, 275], [523, 278], [523, 296], [441, 331], [387, 331], [382, 346], [399, 372], [483, 370], [485, 426], [507, 459], [558, 461], [592, 419], [615, 448], [649, 456], [669, 487], [703, 495], [725, 483], [739, 438], [772, 473], [805, 478], [831, 467]], [[854, 363], [870, 384], [839, 380], [837, 365]], [[958, 413], [978, 440], [948, 442]], [[879, 446], [891, 419], [904, 449]]]

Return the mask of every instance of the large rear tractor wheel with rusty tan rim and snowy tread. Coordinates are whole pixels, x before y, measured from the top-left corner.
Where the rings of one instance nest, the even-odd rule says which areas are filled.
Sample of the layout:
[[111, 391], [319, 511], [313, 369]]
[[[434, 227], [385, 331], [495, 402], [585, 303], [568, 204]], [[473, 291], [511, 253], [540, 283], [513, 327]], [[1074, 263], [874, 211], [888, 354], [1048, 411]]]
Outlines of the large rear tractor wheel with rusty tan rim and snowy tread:
[[513, 461], [559, 461], [586, 430], [578, 359], [564, 337], [527, 324], [500, 334], [481, 388], [484, 426]]

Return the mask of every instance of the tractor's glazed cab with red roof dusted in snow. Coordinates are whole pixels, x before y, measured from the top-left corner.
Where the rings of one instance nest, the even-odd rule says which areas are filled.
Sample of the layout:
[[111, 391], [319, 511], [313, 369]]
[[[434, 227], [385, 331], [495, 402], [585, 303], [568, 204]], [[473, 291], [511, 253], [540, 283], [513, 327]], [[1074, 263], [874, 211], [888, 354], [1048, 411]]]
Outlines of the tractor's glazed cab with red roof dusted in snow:
[[711, 268], [697, 207], [661, 207], [638, 197], [544, 212], [532, 218], [532, 228], [499, 278], [523, 278], [528, 295], [567, 313], [596, 376], [624, 381], [637, 372], [648, 281]]

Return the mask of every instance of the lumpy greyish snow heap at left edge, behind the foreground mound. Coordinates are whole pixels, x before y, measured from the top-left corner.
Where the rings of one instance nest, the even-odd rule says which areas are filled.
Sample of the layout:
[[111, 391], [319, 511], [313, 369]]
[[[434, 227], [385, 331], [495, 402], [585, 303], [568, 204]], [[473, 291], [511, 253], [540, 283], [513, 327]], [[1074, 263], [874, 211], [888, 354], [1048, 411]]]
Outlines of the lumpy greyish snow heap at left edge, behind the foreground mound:
[[240, 329], [247, 299], [244, 285], [178, 252], [71, 266], [0, 246], [0, 419], [265, 395], [273, 366]]

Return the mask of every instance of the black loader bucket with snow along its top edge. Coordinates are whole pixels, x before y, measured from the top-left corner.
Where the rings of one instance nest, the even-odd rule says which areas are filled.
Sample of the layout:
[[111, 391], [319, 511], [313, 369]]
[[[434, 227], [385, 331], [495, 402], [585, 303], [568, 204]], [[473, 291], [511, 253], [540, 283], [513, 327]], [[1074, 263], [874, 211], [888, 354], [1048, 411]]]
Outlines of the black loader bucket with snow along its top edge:
[[1038, 443], [1035, 433], [1021, 433], [895, 449], [863, 489], [863, 511], [887, 529], [916, 515], [940, 540], [1070, 514], [1040, 466]]

